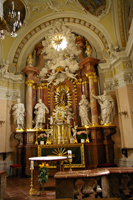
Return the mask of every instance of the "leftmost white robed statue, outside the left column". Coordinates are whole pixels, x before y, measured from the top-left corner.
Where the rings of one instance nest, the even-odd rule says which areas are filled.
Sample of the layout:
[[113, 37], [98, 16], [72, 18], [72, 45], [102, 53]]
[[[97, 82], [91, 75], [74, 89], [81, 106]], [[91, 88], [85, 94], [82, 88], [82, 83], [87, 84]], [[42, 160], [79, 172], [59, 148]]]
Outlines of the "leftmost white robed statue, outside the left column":
[[12, 107], [12, 115], [14, 117], [14, 123], [16, 125], [16, 129], [23, 129], [24, 126], [24, 116], [25, 116], [25, 108], [24, 104], [20, 103], [20, 98], [17, 98], [17, 103]]

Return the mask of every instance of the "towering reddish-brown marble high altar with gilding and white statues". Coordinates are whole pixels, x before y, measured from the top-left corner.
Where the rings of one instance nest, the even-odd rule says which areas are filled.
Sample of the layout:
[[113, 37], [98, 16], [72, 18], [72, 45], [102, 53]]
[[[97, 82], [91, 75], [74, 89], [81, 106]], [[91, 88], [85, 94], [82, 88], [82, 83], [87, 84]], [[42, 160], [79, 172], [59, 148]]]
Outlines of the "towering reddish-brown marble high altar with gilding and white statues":
[[[15, 138], [20, 141], [18, 162], [26, 175], [30, 175], [28, 158], [40, 156], [38, 149], [42, 152], [45, 149], [46, 156], [52, 148], [54, 151], [82, 146], [81, 163], [84, 161], [84, 164], [81, 167], [86, 169], [113, 162], [111, 135], [116, 128], [113, 99], [107, 94], [98, 95], [99, 60], [87, 53], [88, 48], [92, 53], [85, 38], [57, 21], [45, 39], [35, 46], [38, 64], [33, 66], [32, 55], [27, 59], [27, 66], [22, 70], [27, 75], [25, 128], [15, 132]], [[103, 108], [106, 104], [110, 109], [108, 116]], [[77, 132], [85, 131], [88, 133], [86, 143], [78, 144]], [[41, 146], [37, 138], [44, 132], [47, 141]]]

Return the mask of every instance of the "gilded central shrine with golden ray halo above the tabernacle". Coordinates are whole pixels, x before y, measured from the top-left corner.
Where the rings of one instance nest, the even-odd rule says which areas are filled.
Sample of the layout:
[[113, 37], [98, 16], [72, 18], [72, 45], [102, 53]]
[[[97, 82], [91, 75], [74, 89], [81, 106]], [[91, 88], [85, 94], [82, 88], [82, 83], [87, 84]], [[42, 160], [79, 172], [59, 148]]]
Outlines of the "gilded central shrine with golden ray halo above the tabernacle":
[[51, 136], [53, 144], [69, 143], [71, 136], [70, 121], [73, 120], [70, 88], [66, 83], [60, 83], [55, 89], [55, 108], [50, 116]]

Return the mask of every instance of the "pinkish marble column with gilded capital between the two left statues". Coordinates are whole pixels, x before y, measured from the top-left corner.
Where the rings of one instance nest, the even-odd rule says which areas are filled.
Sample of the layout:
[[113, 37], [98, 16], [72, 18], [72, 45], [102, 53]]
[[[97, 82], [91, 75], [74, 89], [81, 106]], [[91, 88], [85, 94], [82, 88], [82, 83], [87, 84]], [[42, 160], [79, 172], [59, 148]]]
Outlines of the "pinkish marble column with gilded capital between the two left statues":
[[32, 86], [34, 84], [33, 80], [26, 81], [27, 84], [27, 99], [26, 99], [26, 128], [32, 128], [33, 119], [33, 109], [32, 109]]

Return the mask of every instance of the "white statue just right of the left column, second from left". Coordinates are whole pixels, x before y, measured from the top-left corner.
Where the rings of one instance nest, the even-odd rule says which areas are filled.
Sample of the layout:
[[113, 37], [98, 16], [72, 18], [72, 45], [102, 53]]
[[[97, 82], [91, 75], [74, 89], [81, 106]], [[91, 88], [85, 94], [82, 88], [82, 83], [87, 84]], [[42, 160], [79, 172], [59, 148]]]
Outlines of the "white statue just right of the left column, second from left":
[[35, 127], [42, 128], [42, 123], [45, 123], [45, 113], [49, 113], [48, 108], [42, 103], [42, 99], [38, 100], [38, 103], [35, 105]]

